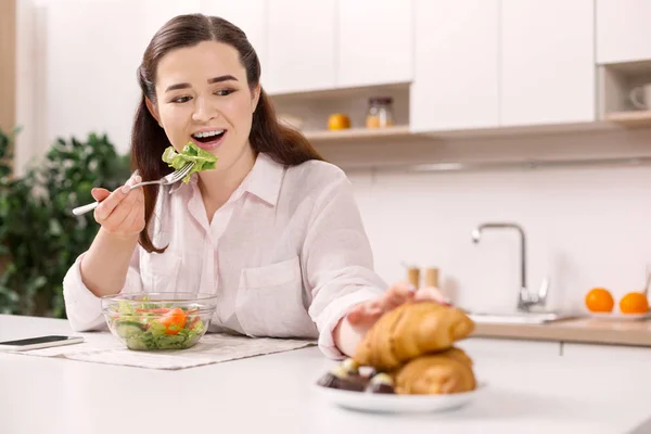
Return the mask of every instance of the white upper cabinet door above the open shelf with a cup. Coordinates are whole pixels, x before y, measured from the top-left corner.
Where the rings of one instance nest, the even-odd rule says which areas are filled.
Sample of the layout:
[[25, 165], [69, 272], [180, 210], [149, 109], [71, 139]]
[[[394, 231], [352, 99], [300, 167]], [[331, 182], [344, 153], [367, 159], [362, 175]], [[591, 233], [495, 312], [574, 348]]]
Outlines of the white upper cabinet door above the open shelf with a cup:
[[651, 1], [597, 0], [597, 63], [651, 60]]

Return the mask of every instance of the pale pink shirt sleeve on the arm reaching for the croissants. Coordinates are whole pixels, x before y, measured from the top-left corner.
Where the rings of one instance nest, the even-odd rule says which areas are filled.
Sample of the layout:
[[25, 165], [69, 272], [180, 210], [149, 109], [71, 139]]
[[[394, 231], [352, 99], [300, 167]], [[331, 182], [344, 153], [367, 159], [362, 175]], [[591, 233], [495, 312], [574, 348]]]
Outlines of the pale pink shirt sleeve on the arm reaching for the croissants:
[[315, 202], [302, 258], [312, 294], [309, 315], [319, 330], [318, 345], [326, 356], [341, 359], [344, 355], [334, 344], [334, 328], [353, 306], [386, 290], [373, 271], [371, 246], [343, 173]]

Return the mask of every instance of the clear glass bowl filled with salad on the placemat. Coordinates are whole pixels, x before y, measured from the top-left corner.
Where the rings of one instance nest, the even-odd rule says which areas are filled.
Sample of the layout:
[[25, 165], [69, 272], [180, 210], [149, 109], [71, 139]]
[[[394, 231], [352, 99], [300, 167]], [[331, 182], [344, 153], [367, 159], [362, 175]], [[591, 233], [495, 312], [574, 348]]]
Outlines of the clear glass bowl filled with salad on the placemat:
[[101, 299], [111, 332], [129, 349], [186, 349], [208, 330], [217, 297], [202, 293], [132, 293]]

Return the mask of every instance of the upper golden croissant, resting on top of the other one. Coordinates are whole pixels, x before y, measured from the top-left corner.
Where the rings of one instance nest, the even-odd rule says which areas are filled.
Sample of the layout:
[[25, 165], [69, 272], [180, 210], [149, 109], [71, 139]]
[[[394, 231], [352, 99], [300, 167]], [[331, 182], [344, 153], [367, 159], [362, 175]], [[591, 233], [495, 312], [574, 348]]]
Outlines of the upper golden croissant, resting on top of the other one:
[[381, 371], [423, 354], [448, 349], [474, 322], [463, 311], [435, 302], [406, 303], [384, 314], [355, 350], [355, 361]]

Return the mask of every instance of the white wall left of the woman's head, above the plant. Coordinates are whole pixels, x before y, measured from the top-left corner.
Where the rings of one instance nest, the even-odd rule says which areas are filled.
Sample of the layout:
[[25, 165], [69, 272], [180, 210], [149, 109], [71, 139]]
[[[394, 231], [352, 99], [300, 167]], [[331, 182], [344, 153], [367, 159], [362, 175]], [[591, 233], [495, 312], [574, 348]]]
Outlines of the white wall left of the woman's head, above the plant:
[[197, 3], [18, 0], [17, 166], [41, 155], [58, 137], [84, 139], [91, 131], [107, 132], [118, 152], [126, 152], [146, 43], [169, 14], [194, 11]]

